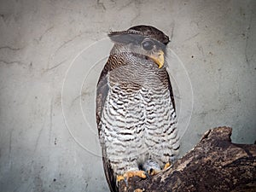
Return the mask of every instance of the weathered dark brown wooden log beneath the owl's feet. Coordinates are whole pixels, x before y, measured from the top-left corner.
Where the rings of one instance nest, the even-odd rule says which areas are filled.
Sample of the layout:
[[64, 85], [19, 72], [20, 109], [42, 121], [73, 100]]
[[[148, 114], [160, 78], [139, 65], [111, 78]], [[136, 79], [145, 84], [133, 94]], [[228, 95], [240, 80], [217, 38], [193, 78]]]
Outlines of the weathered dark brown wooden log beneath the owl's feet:
[[119, 191], [256, 191], [256, 145], [231, 143], [229, 127], [207, 131], [195, 148], [154, 177], [121, 182]]

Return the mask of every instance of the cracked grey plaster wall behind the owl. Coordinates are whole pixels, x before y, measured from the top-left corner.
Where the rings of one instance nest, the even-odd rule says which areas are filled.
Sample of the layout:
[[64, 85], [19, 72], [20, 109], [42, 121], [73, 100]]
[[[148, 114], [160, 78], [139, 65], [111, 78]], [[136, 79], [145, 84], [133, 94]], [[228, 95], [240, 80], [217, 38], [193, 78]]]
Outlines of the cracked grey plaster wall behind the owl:
[[108, 191], [94, 119], [96, 79], [110, 49], [101, 40], [138, 24], [172, 38], [192, 84], [189, 111], [188, 77], [177, 82], [178, 105], [190, 105], [181, 125], [191, 114], [182, 153], [218, 125], [233, 127], [233, 141], [254, 143], [255, 10], [253, 0], [1, 1], [0, 190]]

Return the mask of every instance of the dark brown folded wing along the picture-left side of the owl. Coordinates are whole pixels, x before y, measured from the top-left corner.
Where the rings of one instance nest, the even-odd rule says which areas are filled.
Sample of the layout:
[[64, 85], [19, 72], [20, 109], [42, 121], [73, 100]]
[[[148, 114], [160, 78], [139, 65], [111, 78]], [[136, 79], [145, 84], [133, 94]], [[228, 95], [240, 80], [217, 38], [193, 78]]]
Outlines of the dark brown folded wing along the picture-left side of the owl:
[[[98, 127], [99, 137], [101, 137], [101, 131], [102, 131], [102, 127], [100, 125], [100, 121], [102, 118], [102, 109], [104, 108], [106, 98], [108, 96], [108, 90], [109, 90], [109, 87], [108, 87], [109, 65], [110, 65], [109, 62], [107, 62], [105, 67], [103, 68], [100, 79], [96, 87], [96, 123]], [[102, 142], [102, 138], [100, 138], [100, 140], [101, 140], [101, 146], [102, 146], [102, 160], [103, 160], [103, 168], [104, 168], [105, 176], [107, 178], [109, 188], [111, 189], [112, 192], [115, 192], [115, 191], [118, 191], [116, 186], [116, 178], [113, 173], [111, 164], [108, 160], [108, 154], [106, 151], [105, 143]]]

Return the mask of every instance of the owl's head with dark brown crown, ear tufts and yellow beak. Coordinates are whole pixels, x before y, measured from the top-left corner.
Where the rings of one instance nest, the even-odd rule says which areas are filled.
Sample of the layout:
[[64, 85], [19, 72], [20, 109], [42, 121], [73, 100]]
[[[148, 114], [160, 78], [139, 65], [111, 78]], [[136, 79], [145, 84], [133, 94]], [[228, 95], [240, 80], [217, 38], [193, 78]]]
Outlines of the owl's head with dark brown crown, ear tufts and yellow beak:
[[126, 31], [110, 32], [108, 36], [119, 51], [151, 59], [159, 68], [164, 66], [166, 45], [170, 40], [154, 26], [132, 26]]

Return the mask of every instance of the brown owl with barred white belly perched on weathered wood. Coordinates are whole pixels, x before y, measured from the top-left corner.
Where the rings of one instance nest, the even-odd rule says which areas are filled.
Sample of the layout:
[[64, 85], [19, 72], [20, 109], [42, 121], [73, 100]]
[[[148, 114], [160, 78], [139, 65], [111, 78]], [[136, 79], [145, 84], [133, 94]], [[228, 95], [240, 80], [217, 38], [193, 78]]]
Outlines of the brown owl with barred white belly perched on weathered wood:
[[132, 26], [110, 32], [108, 61], [96, 86], [96, 124], [111, 191], [120, 180], [148, 177], [176, 159], [179, 149], [164, 32]]

